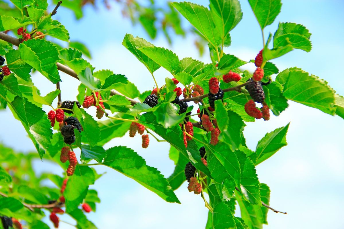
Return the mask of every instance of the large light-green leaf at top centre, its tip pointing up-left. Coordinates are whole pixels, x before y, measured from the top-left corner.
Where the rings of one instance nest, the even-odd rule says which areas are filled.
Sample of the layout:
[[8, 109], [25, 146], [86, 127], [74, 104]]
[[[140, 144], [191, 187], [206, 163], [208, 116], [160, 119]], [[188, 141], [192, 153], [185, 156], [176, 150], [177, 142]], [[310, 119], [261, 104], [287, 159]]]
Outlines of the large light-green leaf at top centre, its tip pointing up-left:
[[173, 2], [178, 10], [198, 30], [213, 48], [221, 44], [221, 32], [215, 26], [212, 13], [203, 5], [191, 2]]

